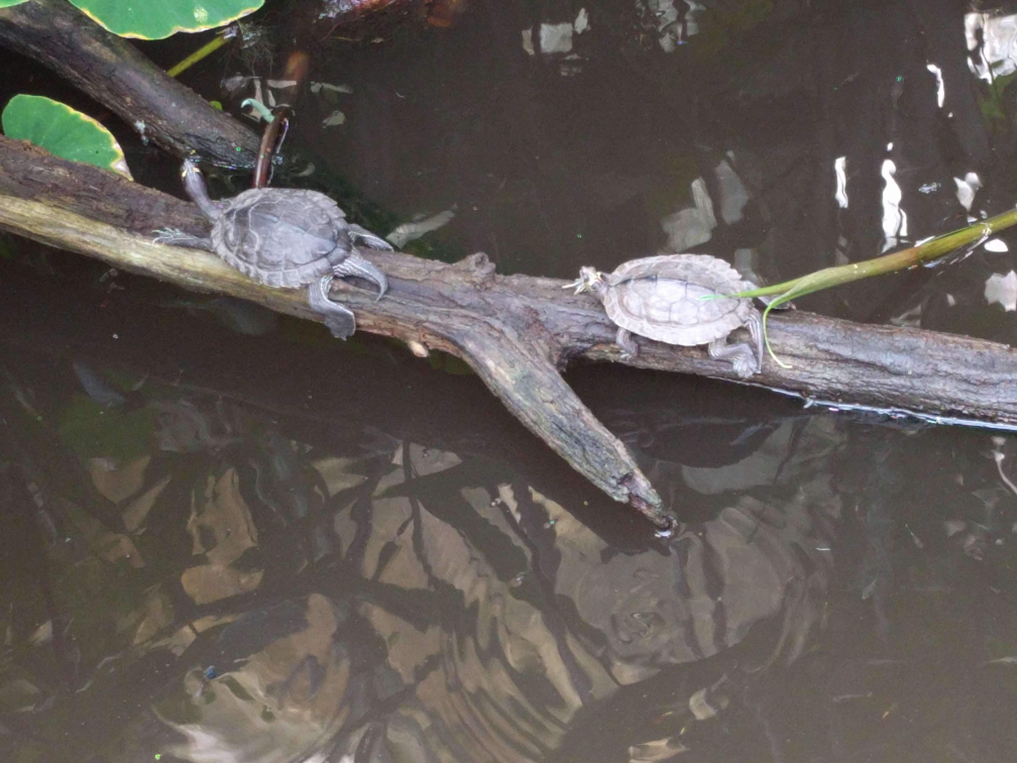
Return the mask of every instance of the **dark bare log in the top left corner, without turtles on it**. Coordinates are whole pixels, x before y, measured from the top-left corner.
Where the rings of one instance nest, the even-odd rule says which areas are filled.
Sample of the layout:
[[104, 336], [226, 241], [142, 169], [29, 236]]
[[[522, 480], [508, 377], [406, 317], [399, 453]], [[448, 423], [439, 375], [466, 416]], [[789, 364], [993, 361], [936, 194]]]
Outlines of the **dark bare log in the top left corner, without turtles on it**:
[[142, 140], [225, 167], [253, 167], [258, 137], [66, 0], [0, 8], [0, 45], [34, 58], [116, 113]]

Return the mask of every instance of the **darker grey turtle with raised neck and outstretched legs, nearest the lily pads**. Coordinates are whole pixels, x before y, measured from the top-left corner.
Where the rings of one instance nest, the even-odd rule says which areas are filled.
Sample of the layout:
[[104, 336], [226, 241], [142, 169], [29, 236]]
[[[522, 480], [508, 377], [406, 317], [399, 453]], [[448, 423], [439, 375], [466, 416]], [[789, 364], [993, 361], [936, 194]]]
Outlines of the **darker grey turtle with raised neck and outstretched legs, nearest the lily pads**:
[[359, 276], [385, 293], [384, 274], [354, 251], [364, 244], [392, 249], [383, 238], [346, 222], [333, 199], [303, 188], [251, 188], [231, 198], [213, 201], [190, 159], [181, 176], [187, 194], [213, 222], [208, 238], [174, 229], [158, 231], [156, 241], [206, 249], [260, 284], [307, 286], [311, 308], [324, 315], [333, 336], [346, 339], [356, 330], [353, 312], [328, 298], [334, 278]]

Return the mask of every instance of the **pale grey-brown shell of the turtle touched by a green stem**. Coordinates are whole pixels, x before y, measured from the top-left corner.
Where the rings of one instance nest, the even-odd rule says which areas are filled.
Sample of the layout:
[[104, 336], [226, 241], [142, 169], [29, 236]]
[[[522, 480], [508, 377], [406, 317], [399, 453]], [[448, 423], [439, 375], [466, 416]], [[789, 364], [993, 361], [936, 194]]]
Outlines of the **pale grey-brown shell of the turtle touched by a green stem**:
[[622, 262], [602, 293], [608, 317], [641, 337], [672, 345], [707, 344], [744, 326], [751, 299], [704, 299], [755, 289], [731, 266], [709, 254], [658, 254]]

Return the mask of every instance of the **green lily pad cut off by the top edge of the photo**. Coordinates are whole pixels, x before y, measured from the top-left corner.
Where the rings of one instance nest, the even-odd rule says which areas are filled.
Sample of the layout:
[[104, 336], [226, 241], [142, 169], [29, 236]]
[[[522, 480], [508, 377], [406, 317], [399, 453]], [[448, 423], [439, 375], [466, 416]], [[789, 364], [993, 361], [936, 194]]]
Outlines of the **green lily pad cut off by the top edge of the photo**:
[[70, 0], [114, 35], [162, 40], [177, 32], [201, 32], [246, 16], [264, 0]]

